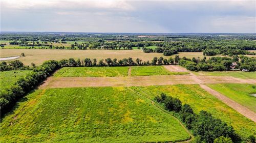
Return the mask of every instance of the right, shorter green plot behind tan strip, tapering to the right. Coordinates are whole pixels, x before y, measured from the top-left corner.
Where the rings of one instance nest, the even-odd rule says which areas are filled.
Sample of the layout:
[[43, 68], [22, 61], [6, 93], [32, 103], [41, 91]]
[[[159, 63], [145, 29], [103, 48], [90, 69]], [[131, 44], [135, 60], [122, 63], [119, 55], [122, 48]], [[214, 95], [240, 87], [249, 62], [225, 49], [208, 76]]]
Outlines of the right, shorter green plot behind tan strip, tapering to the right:
[[132, 67], [132, 76], [147, 76], [147, 75], [175, 75], [188, 74], [187, 72], [169, 72], [163, 66], [134, 66]]

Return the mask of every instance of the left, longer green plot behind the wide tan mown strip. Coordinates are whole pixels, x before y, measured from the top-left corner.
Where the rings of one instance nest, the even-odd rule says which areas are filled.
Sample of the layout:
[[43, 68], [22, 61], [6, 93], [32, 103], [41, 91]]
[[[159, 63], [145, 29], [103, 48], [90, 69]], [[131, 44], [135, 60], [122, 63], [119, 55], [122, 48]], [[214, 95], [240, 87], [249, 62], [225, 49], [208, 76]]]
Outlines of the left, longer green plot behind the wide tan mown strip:
[[53, 77], [112, 77], [127, 76], [129, 67], [64, 67]]

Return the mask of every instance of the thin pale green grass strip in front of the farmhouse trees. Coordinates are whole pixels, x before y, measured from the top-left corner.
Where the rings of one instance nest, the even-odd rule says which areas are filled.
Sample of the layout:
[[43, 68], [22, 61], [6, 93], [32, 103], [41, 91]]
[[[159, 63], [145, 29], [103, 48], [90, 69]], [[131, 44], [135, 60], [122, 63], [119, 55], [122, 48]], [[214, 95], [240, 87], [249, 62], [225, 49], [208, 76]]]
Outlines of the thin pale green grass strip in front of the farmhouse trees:
[[242, 71], [213, 71], [213, 72], [193, 72], [196, 75], [212, 75], [212, 76], [233, 76], [243, 79], [256, 79], [256, 72]]

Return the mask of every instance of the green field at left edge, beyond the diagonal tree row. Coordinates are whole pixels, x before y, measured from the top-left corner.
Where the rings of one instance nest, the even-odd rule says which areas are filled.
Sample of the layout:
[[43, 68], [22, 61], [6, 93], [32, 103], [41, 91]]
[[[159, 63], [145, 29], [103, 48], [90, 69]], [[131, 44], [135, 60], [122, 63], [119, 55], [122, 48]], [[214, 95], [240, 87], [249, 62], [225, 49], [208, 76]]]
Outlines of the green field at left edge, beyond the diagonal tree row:
[[10, 88], [18, 78], [24, 77], [27, 74], [32, 73], [32, 70], [12, 70], [0, 72], [0, 87], [1, 89]]

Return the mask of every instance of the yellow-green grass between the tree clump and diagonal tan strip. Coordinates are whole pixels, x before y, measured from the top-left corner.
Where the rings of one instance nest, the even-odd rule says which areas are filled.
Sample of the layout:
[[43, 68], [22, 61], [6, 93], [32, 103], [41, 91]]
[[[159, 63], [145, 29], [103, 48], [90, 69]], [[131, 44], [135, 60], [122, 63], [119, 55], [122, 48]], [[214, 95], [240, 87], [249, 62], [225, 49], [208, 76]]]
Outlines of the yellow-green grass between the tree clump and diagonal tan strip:
[[256, 133], [256, 123], [201, 89], [198, 84], [132, 87], [132, 89], [152, 99], [161, 93], [177, 97], [183, 104], [191, 105], [195, 112], [206, 110], [214, 117], [232, 125], [236, 133], [242, 137]]

